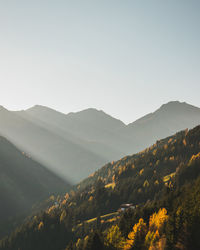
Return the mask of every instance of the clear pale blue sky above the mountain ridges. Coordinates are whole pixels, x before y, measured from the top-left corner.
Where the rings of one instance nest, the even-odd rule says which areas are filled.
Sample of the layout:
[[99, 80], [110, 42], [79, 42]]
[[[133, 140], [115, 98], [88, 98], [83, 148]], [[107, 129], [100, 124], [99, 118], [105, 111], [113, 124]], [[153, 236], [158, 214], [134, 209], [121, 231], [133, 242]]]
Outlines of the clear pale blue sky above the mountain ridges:
[[199, 0], [0, 1], [0, 104], [124, 122], [171, 100], [200, 107]]

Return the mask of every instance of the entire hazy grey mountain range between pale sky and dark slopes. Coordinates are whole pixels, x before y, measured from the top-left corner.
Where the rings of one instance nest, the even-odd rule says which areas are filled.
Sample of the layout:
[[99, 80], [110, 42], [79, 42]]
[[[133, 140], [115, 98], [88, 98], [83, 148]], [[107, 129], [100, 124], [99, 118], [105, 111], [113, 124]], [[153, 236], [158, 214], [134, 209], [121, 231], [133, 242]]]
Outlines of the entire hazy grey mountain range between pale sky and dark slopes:
[[69, 114], [40, 105], [17, 112], [0, 108], [0, 133], [74, 183], [109, 161], [198, 124], [200, 109], [178, 101], [129, 125], [92, 108]]

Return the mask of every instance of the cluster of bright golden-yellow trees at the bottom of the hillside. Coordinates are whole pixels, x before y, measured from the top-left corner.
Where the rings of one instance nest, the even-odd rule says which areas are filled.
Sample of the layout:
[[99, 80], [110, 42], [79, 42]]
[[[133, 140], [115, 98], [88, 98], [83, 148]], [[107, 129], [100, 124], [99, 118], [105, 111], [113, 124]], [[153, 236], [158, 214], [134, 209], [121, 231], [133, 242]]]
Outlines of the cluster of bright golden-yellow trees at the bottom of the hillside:
[[113, 225], [105, 235], [105, 243], [116, 249], [149, 249], [164, 250], [166, 237], [163, 234], [164, 225], [168, 220], [167, 210], [162, 208], [149, 218], [149, 227], [142, 218], [133, 226], [127, 240], [122, 236], [119, 227]]

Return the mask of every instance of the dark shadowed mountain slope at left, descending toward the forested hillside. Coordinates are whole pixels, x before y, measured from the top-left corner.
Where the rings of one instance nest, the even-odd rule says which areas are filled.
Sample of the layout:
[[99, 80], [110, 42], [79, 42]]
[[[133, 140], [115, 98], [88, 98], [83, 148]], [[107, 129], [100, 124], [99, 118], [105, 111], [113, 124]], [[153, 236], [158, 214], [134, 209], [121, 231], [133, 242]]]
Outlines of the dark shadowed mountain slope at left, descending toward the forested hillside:
[[69, 183], [0, 137], [0, 234], [4, 223], [11, 226], [13, 217], [29, 214], [33, 205], [69, 187]]

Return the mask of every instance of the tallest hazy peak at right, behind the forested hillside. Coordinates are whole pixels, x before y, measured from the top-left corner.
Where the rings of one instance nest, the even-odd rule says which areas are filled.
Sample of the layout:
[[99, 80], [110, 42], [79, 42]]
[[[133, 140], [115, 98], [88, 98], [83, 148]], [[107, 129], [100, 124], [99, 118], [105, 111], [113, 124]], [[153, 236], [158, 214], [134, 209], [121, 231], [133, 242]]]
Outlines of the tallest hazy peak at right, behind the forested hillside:
[[131, 152], [138, 152], [156, 140], [191, 129], [200, 124], [200, 108], [185, 102], [172, 101], [162, 105], [153, 113], [130, 123], [119, 132], [132, 138]]

